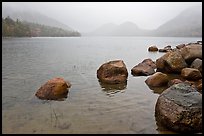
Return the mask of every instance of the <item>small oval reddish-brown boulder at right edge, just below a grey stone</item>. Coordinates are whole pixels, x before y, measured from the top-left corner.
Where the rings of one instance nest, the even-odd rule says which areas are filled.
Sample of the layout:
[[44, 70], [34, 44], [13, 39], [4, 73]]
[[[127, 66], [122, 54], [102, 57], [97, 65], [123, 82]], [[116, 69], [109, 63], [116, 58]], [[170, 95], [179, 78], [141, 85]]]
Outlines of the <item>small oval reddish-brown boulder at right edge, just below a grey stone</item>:
[[181, 71], [181, 76], [188, 80], [199, 80], [202, 78], [202, 75], [198, 69], [194, 68], [184, 68]]

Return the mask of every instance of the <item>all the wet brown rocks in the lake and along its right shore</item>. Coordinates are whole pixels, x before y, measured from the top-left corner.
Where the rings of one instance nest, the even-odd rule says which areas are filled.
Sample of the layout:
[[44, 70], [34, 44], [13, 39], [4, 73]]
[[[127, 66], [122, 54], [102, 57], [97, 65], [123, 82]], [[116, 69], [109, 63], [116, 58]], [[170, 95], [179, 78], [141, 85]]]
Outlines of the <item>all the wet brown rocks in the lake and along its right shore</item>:
[[[170, 45], [158, 49], [150, 46], [148, 51], [164, 52], [156, 61], [150, 58], [131, 69], [133, 76], [147, 76], [145, 83], [152, 90], [164, 87], [155, 105], [157, 124], [176, 132], [202, 132], [202, 41]], [[101, 86], [125, 88], [128, 70], [123, 60], [113, 60], [102, 64], [97, 72]], [[169, 78], [177, 74], [179, 78]], [[54, 78], [46, 82], [36, 92], [43, 100], [66, 98], [71, 84], [63, 78]], [[116, 87], [117, 88], [117, 87]]]

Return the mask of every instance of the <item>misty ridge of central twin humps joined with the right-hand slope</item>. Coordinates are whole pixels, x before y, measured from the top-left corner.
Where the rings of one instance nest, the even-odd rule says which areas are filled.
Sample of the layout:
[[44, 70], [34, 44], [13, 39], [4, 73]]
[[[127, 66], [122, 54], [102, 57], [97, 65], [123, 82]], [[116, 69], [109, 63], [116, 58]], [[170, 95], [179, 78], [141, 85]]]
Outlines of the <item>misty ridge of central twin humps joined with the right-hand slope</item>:
[[202, 36], [202, 7], [190, 7], [155, 30], [139, 28], [133, 22], [107, 23], [88, 36]]

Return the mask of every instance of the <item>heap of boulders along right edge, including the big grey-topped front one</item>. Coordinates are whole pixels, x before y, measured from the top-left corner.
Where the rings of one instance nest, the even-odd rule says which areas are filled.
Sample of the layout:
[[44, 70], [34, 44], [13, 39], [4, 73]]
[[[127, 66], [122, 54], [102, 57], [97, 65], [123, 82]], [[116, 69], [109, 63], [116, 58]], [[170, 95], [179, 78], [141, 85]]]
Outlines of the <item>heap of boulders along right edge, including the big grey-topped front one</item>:
[[[156, 60], [157, 72], [145, 80], [148, 86], [169, 87], [157, 99], [157, 124], [177, 132], [201, 132], [202, 42], [170, 47], [165, 47], [162, 52], [166, 54]], [[166, 73], [180, 74], [184, 81], [169, 81]]]

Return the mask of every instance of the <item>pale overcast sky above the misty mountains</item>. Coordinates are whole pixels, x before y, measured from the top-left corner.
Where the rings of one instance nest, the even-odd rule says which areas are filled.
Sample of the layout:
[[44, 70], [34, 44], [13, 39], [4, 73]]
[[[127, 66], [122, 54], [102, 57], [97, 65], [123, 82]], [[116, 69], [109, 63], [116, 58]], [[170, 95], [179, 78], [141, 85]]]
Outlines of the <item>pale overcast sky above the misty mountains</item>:
[[87, 32], [105, 23], [134, 22], [155, 29], [182, 10], [202, 2], [9, 2], [19, 10], [31, 9], [54, 18], [75, 30]]

